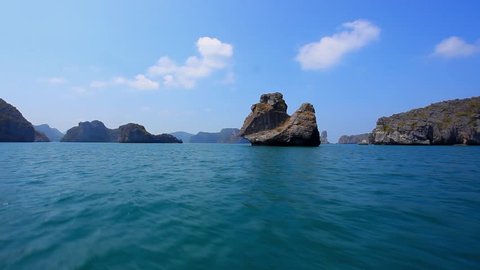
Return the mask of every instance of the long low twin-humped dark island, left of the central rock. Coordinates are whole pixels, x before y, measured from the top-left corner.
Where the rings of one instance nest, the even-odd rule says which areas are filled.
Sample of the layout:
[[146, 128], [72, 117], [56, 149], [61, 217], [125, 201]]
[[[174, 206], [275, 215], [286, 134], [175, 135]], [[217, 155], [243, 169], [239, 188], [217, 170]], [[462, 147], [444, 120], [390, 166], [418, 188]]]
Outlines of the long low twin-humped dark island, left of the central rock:
[[80, 122], [67, 131], [62, 142], [182, 143], [170, 134], [150, 134], [139, 124], [129, 123], [118, 129], [109, 129], [98, 120]]

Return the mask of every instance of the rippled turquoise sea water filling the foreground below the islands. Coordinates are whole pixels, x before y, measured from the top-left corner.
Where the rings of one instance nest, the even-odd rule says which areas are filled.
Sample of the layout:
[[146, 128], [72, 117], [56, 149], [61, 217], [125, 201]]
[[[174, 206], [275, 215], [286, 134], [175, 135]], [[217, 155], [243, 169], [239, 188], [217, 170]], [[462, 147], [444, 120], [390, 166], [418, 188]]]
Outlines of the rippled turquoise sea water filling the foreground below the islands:
[[480, 148], [0, 144], [0, 269], [479, 269]]

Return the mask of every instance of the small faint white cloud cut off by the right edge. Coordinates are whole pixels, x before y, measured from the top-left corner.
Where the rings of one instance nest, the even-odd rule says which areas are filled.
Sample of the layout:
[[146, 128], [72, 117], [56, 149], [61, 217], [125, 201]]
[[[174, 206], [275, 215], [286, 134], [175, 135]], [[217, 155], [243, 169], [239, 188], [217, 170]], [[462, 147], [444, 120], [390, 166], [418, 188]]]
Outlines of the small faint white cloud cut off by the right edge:
[[433, 55], [444, 58], [468, 57], [480, 52], [480, 44], [469, 44], [459, 37], [449, 37], [435, 46]]

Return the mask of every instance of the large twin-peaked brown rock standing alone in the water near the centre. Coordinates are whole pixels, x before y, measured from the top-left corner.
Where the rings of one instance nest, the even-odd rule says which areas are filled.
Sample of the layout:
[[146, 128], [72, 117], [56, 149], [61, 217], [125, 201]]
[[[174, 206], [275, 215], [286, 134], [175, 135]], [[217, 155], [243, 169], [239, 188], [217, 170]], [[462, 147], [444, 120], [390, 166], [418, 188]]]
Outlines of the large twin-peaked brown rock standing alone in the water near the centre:
[[240, 136], [252, 145], [318, 146], [320, 134], [315, 109], [304, 103], [292, 115], [287, 114], [287, 104], [281, 93], [264, 94], [260, 102], [252, 105], [240, 129]]

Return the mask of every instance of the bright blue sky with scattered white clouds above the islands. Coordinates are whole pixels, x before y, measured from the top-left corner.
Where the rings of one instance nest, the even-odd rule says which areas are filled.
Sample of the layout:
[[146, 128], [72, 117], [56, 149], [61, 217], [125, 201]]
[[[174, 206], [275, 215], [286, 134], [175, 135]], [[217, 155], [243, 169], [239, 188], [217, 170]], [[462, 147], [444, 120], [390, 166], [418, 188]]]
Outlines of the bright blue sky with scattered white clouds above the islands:
[[3, 1], [0, 97], [33, 124], [240, 128], [263, 93], [336, 142], [480, 95], [480, 1]]

